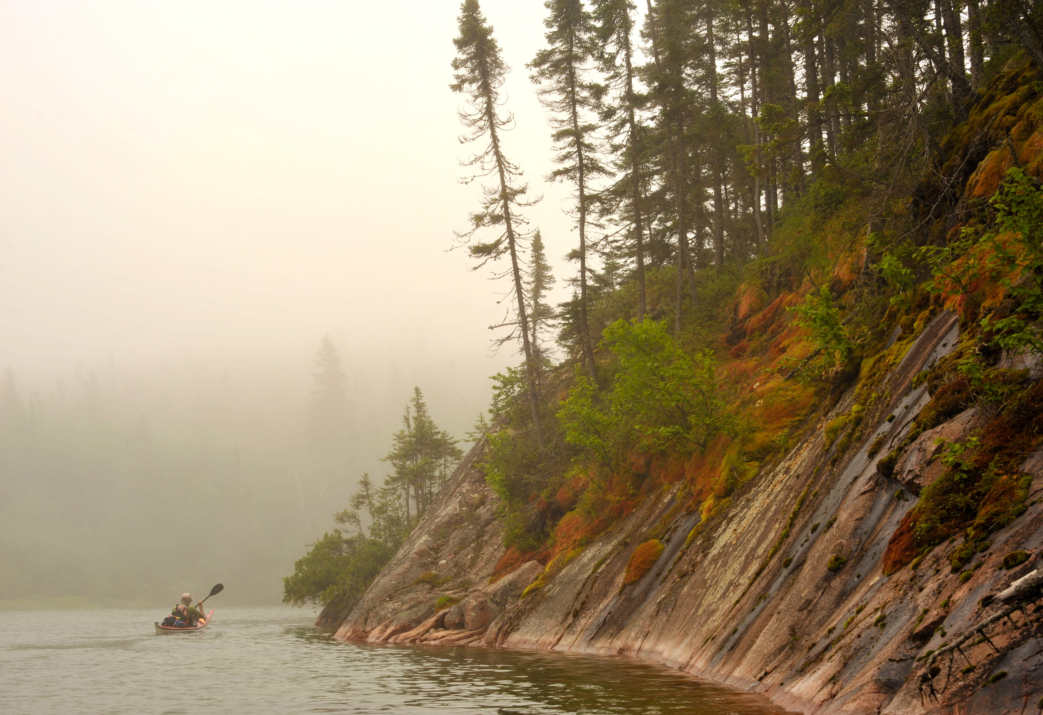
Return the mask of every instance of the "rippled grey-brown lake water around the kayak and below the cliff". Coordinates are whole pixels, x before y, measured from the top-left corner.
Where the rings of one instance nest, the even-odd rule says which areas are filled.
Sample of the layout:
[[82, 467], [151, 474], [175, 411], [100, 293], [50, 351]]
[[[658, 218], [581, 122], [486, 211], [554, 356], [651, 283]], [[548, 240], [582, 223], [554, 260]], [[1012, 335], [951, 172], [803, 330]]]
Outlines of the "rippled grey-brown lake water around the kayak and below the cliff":
[[766, 698], [624, 658], [359, 645], [289, 608], [215, 605], [200, 633], [159, 611], [0, 612], [0, 711], [767, 715]]

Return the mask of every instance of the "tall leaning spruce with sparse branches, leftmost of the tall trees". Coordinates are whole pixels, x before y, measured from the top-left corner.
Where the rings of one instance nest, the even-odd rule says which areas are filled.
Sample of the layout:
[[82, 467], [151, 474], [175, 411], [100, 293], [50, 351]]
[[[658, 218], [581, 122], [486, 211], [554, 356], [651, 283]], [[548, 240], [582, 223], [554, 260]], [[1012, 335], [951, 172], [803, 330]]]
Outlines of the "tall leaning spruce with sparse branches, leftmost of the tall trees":
[[[460, 141], [481, 142], [484, 145], [480, 151], [462, 162], [464, 167], [475, 171], [464, 179], [464, 182], [491, 177], [492, 183], [483, 187], [481, 206], [470, 215], [470, 228], [457, 233], [457, 238], [461, 242], [460, 245], [468, 247], [471, 257], [478, 258], [479, 263], [472, 270], [478, 270], [490, 261], [496, 261], [505, 255], [510, 257], [510, 269], [494, 273], [494, 277], [510, 277], [511, 288], [508, 297], [513, 295], [515, 298], [516, 312], [515, 320], [505, 324], [513, 325], [514, 329], [499, 343], [503, 344], [515, 336], [522, 339], [533, 429], [536, 433], [539, 450], [542, 452], [543, 433], [539, 424], [536, 364], [529, 340], [529, 317], [525, 304], [520, 265], [520, 252], [529, 236], [522, 230], [526, 221], [519, 209], [532, 205], [535, 200], [527, 201], [524, 198], [528, 184], [519, 182], [522, 170], [507, 158], [501, 144], [501, 132], [513, 121], [511, 115], [500, 114], [500, 90], [504, 84], [508, 67], [500, 53], [499, 44], [492, 36], [492, 27], [482, 15], [478, 0], [464, 0], [460, 7], [458, 25], [460, 34], [453, 41], [457, 48], [457, 56], [453, 59], [453, 78], [456, 81], [450, 89], [467, 98], [466, 108], [459, 110], [460, 123], [467, 129]], [[501, 233], [492, 241], [475, 241], [476, 235], [486, 228], [499, 229]]]

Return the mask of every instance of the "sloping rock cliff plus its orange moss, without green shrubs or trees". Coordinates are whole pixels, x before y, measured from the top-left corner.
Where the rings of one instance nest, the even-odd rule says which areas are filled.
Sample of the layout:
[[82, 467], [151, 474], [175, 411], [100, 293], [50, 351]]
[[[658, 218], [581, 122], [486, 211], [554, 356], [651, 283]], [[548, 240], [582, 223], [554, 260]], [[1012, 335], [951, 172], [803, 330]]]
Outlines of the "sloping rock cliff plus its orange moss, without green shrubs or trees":
[[[949, 208], [925, 182], [921, 223], [957, 231], [1015, 163], [1043, 173], [1034, 78], [1014, 68], [981, 95], [945, 147]], [[829, 289], [851, 305], [866, 253], [838, 245]], [[1039, 712], [1043, 585], [1019, 580], [1043, 544], [1043, 371], [978, 324], [1016, 301], [1002, 282], [921, 294], [815, 392], [780, 369], [811, 353], [785, 310], [805, 282], [773, 301], [739, 290], [725, 369], [745, 442], [638, 457], [610, 517], [583, 531], [566, 514], [520, 553], [482, 440], [362, 600], [320, 621], [340, 639], [624, 654], [805, 713]]]

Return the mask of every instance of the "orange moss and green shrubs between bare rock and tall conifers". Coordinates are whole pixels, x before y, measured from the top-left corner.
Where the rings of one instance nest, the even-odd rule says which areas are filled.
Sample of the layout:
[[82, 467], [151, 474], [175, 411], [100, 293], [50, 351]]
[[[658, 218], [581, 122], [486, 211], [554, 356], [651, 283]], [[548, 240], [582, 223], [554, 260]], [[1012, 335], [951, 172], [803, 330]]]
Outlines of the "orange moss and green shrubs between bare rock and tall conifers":
[[[949, 446], [947, 453], [963, 449], [960, 459], [902, 521], [884, 569], [961, 532], [980, 545], [1014, 518], [1025, 482], [1016, 458], [1035, 446], [1034, 420], [1043, 410], [1024, 370], [998, 367], [1001, 354], [1040, 346], [1043, 291], [1035, 276], [1043, 268], [1043, 211], [1033, 175], [1043, 167], [1043, 139], [1033, 138], [1041, 137], [1043, 112], [1035, 90], [1025, 90], [1035, 81], [1026, 68], [979, 96], [968, 122], [945, 141], [947, 158], [912, 198], [881, 198], [839, 172], [831, 186], [812, 187], [791, 204], [765, 257], [742, 270], [699, 271], [699, 300], [685, 297], [681, 332], [671, 329], [672, 267], [648, 271], [645, 321], [632, 314], [629, 283], [596, 293], [598, 378], [578, 359], [548, 367], [542, 452], [527, 432], [520, 373], [498, 375], [490, 412], [501, 428], [483, 464], [510, 546], [496, 574], [531, 558], [560, 569], [647, 496], [678, 482], [681, 509], [703, 519], [687, 548], [708, 520], [728, 518], [736, 490], [816, 426], [832, 450], [823, 465], [831, 469], [886, 417], [884, 378], [943, 310], [960, 314], [961, 343], [917, 376], [931, 400], [905, 443], [879, 460], [879, 471], [890, 475], [917, 437], [969, 406], [992, 405], [998, 417], [979, 442]], [[998, 146], [1006, 130], [1024, 149], [1020, 168], [1013, 148], [983, 153], [983, 142]], [[951, 225], [950, 216], [960, 222]], [[852, 386], [853, 406], [823, 421]], [[873, 445], [871, 457], [882, 442]], [[789, 537], [786, 523], [776, 528], [772, 556]]]

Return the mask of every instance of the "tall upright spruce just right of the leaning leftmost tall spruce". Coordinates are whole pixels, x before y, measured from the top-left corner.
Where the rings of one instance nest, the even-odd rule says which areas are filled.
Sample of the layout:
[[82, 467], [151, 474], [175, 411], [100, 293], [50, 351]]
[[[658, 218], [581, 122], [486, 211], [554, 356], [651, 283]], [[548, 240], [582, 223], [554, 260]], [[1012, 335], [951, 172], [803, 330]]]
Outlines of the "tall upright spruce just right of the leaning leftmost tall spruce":
[[576, 190], [576, 227], [580, 245], [580, 340], [590, 378], [598, 380], [590, 328], [587, 322], [587, 212], [591, 179], [608, 173], [598, 161], [591, 134], [598, 125], [590, 117], [598, 108], [604, 88], [588, 79], [596, 48], [596, 28], [583, 0], [548, 0], [550, 16], [543, 21], [548, 47], [536, 53], [528, 67], [554, 128], [551, 138], [558, 168], [551, 178], [567, 181]]

